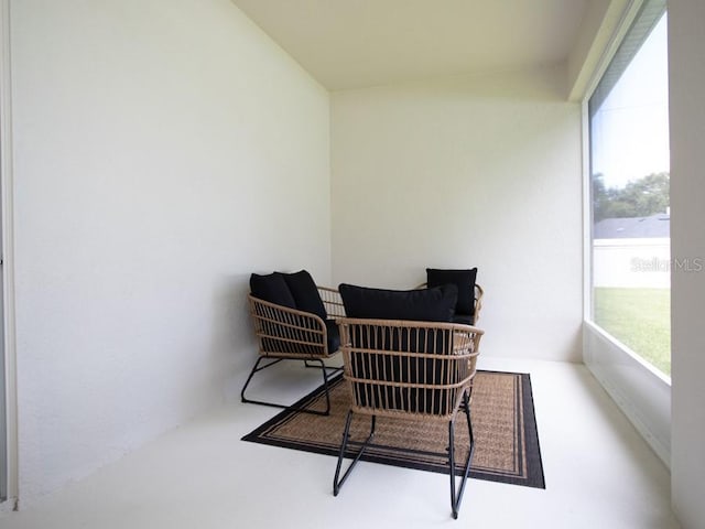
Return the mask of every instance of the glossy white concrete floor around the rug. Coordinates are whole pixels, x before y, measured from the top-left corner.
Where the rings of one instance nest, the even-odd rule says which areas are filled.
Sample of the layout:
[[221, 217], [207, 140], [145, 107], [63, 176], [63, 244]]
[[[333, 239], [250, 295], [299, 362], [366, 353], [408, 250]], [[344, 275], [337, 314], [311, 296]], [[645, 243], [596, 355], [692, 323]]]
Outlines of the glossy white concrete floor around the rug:
[[[680, 527], [668, 468], [584, 366], [484, 357], [478, 367], [531, 374], [545, 490], [470, 479], [453, 520], [447, 476], [362, 462], [334, 497], [334, 457], [240, 441], [276, 410], [238, 402], [0, 515], [0, 527]], [[311, 371], [274, 375], [286, 381], [279, 397], [293, 401], [313, 389]]]

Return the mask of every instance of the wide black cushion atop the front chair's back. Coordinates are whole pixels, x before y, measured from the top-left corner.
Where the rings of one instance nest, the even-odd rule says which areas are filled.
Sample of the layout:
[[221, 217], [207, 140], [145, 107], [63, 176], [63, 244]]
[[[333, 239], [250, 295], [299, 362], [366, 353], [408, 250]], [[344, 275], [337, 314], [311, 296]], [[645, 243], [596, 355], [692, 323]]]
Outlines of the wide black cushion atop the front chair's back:
[[341, 283], [338, 291], [348, 317], [417, 322], [449, 322], [458, 296], [455, 284], [420, 290], [386, 290]]

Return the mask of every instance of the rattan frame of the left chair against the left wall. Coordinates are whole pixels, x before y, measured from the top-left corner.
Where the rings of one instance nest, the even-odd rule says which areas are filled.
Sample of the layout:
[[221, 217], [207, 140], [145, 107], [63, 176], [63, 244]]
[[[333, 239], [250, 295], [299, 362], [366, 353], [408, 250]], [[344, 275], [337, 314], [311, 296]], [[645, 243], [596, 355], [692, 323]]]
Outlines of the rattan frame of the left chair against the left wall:
[[[337, 290], [318, 287], [318, 293], [328, 317], [345, 315], [343, 301]], [[307, 413], [328, 414], [330, 398], [328, 381], [343, 368], [328, 366], [325, 360], [335, 356], [337, 350], [328, 350], [328, 330], [323, 319], [310, 312], [290, 309], [248, 294], [250, 317], [254, 326], [258, 358], [240, 391], [242, 402], [294, 409], [292, 406], [253, 400], [246, 397], [246, 390], [256, 373], [267, 369], [282, 360], [303, 360], [306, 367], [319, 368], [326, 395], [325, 411], [301, 409]]]

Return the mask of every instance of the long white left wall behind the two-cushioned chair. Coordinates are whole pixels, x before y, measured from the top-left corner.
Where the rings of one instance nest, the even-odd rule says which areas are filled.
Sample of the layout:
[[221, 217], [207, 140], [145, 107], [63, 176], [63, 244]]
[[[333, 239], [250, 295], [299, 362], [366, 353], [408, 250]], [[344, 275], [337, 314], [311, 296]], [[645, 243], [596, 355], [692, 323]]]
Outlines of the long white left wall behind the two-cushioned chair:
[[228, 0], [11, 2], [23, 505], [239, 390], [329, 279], [329, 98]]

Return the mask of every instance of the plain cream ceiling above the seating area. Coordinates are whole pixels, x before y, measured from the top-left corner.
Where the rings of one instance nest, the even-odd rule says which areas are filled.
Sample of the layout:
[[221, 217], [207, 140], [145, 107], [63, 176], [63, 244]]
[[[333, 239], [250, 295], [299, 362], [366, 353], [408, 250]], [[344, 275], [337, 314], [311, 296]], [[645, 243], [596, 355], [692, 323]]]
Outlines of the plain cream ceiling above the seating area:
[[232, 2], [321, 84], [340, 90], [561, 63], [588, 0]]

